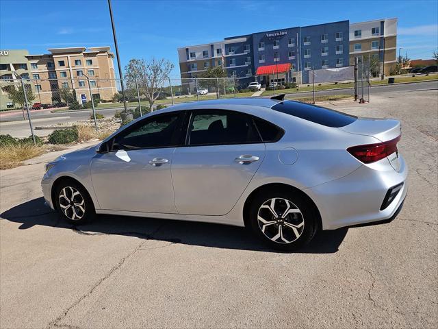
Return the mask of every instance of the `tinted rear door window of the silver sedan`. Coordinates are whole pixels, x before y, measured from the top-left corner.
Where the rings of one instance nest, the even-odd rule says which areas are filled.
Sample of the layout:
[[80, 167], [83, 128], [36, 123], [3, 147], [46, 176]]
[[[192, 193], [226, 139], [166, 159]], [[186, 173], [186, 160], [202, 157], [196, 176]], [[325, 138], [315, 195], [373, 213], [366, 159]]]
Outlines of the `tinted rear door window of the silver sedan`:
[[196, 111], [190, 125], [189, 145], [259, 143], [251, 118], [226, 110]]

